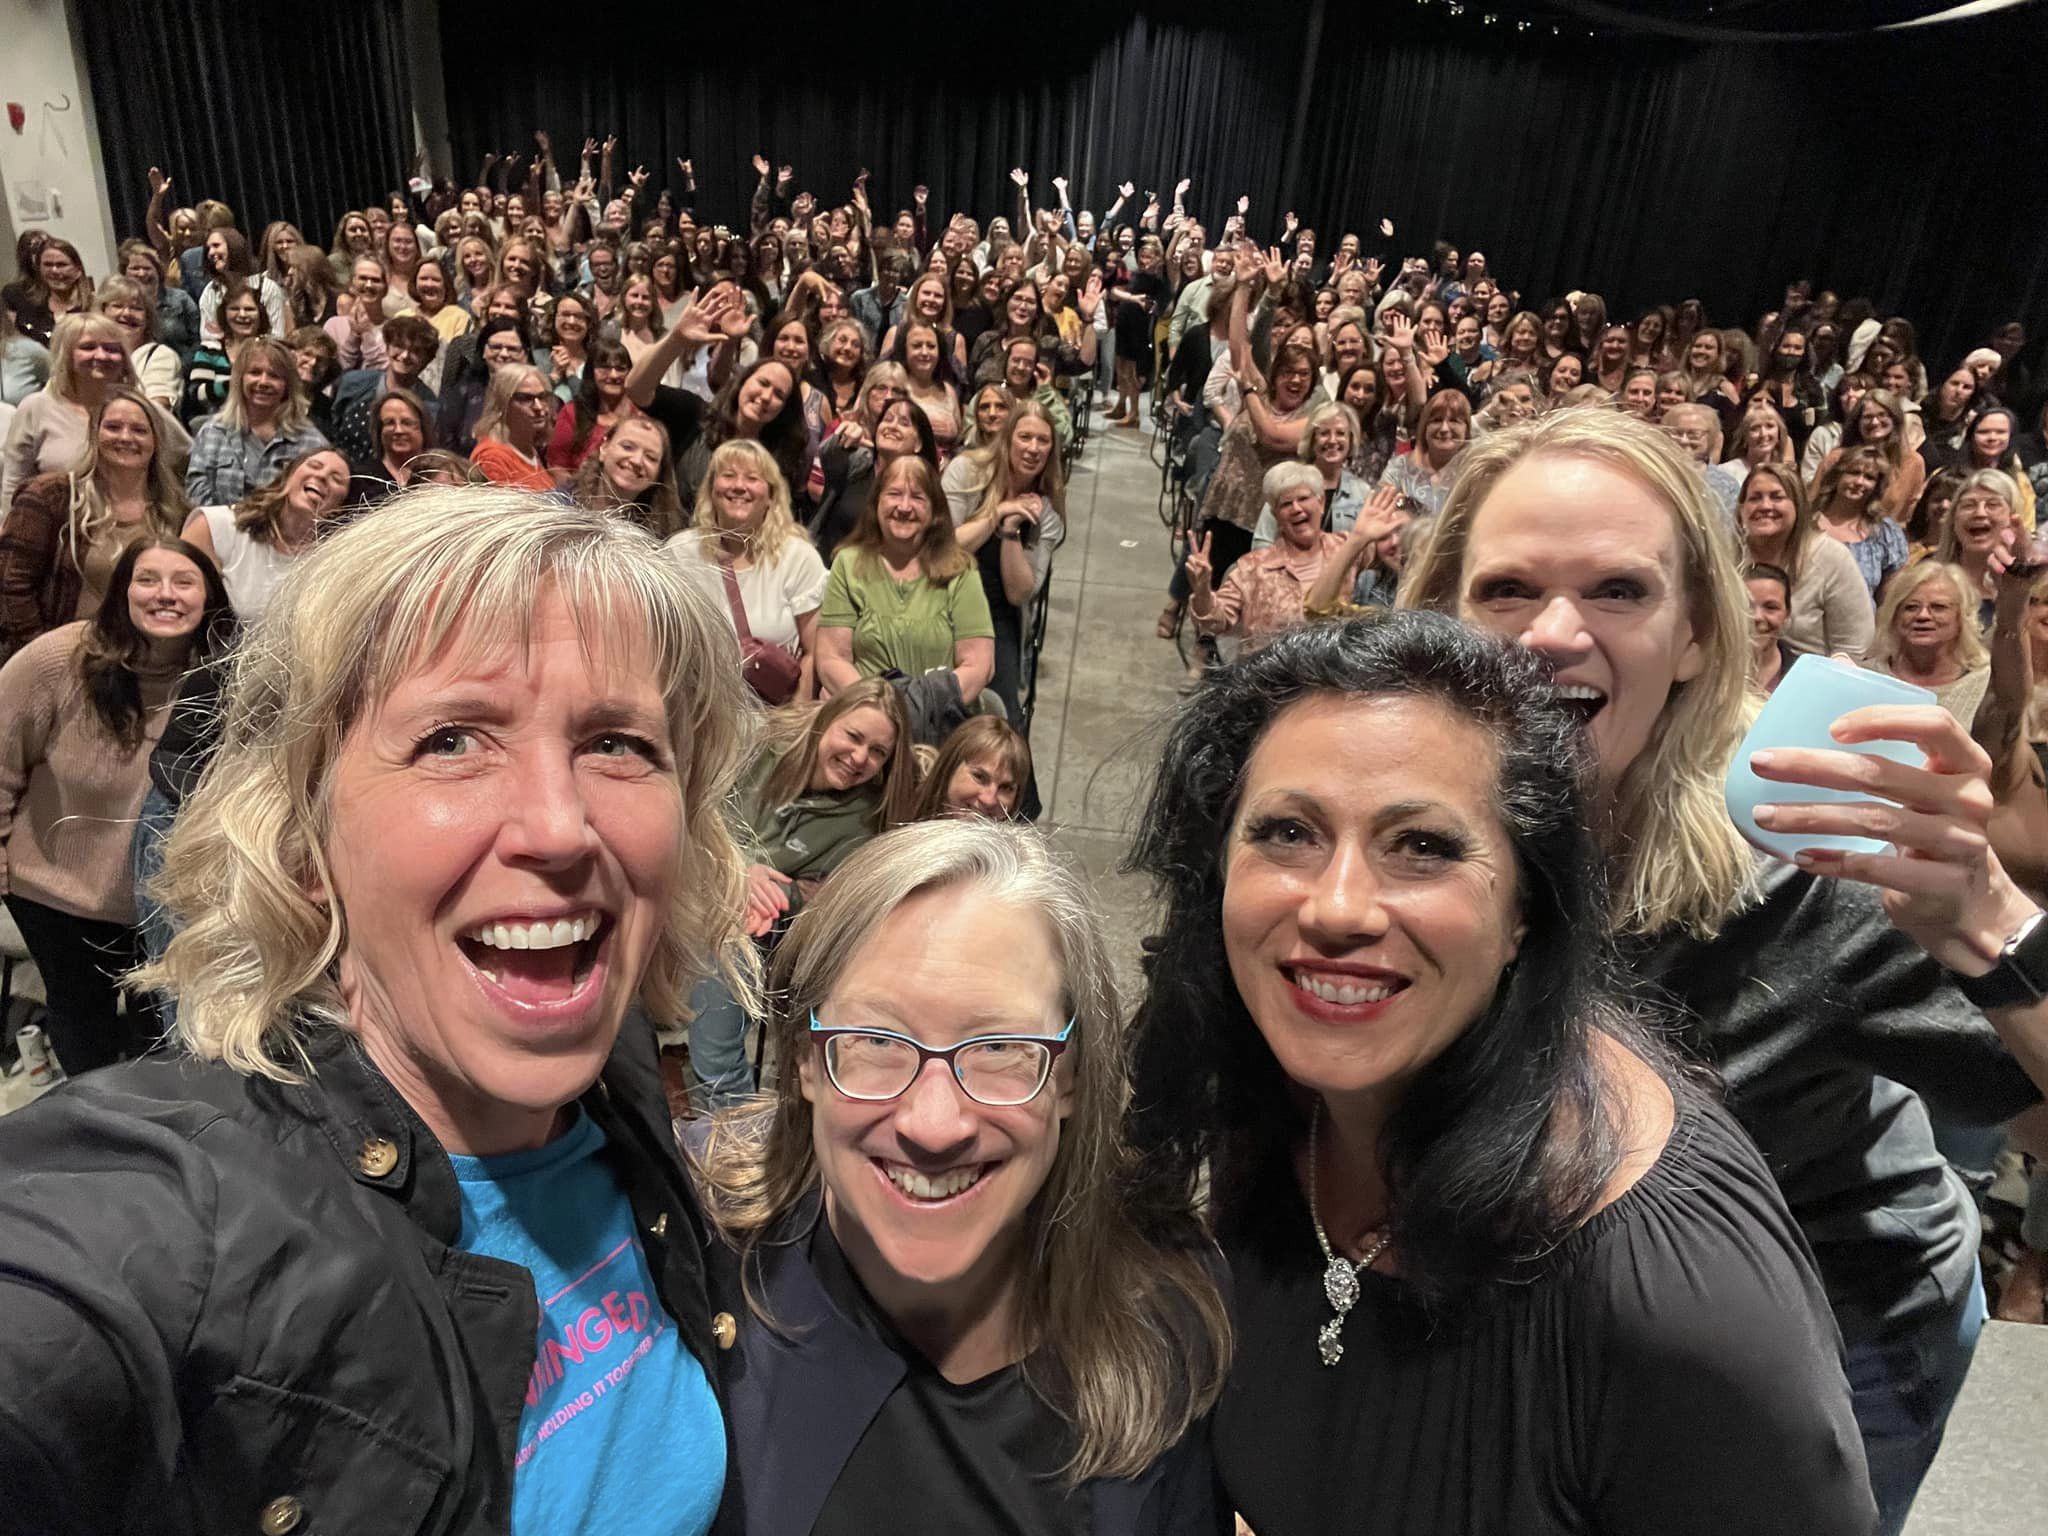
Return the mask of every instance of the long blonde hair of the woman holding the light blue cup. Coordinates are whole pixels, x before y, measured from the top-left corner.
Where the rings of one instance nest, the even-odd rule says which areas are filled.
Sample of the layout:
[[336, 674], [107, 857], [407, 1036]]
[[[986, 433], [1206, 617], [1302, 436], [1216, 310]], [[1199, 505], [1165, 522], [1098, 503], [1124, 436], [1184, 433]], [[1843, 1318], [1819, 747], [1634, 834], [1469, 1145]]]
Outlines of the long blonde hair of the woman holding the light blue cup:
[[1409, 561], [1399, 604], [1462, 614], [1473, 518], [1501, 477], [1530, 459], [1591, 459], [1671, 512], [1702, 666], [1690, 682], [1673, 684], [1595, 829], [1610, 858], [1620, 932], [1683, 928], [1712, 938], [1753, 889], [1753, 860], [1720, 788], [1751, 719], [1749, 594], [1726, 520], [1692, 459], [1649, 422], [1604, 408], [1556, 410], [1491, 432], [1460, 455], [1458, 481]]

